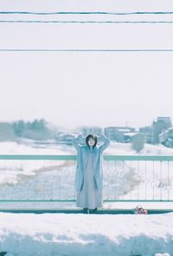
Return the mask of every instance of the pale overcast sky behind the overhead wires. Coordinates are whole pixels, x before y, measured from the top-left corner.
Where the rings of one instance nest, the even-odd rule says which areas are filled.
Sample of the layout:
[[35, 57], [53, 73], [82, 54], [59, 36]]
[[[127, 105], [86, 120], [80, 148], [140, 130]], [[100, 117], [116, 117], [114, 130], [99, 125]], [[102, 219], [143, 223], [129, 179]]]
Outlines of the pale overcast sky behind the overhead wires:
[[[172, 1], [0, 1], [9, 11], [173, 11]], [[22, 16], [0, 20], [169, 20], [162, 16]], [[0, 23], [0, 49], [173, 49], [173, 24]], [[0, 52], [0, 120], [151, 125], [173, 117], [173, 52]]]

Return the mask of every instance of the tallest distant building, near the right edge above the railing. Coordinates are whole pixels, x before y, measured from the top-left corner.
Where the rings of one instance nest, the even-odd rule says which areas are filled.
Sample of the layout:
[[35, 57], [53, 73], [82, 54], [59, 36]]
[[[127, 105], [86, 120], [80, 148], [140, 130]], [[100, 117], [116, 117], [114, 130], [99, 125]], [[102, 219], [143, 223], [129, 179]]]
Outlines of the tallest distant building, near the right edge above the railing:
[[152, 129], [153, 129], [152, 143], [153, 144], [159, 143], [159, 135], [171, 127], [172, 127], [172, 124], [171, 124], [170, 117], [167, 117], [167, 116], [157, 117], [157, 121], [153, 121], [152, 123]]

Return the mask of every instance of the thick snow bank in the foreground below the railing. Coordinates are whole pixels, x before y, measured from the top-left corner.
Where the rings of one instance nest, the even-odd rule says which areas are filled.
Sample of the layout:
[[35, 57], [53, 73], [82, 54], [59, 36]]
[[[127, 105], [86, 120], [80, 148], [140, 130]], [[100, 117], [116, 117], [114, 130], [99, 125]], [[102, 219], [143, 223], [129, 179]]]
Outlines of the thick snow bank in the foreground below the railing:
[[172, 255], [172, 218], [173, 213], [0, 213], [0, 248], [15, 256]]

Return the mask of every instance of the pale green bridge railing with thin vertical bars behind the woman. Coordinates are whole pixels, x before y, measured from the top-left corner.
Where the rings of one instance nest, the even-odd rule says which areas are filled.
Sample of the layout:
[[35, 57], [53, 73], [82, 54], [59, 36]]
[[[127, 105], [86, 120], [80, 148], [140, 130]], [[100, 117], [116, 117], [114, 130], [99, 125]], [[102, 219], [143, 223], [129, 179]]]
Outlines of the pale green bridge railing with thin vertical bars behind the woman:
[[[76, 155], [0, 154], [1, 202], [74, 202]], [[173, 156], [104, 155], [104, 201], [173, 201]]]

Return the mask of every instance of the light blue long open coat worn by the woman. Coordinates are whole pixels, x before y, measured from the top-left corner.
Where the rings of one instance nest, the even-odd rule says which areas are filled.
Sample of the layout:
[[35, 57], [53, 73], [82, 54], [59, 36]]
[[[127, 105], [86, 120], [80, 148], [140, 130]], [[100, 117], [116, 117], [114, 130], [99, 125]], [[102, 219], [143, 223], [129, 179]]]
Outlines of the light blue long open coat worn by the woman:
[[[109, 146], [110, 141], [105, 135], [101, 135], [98, 137], [98, 139], [102, 141], [102, 144], [99, 146], [96, 145], [96, 147], [93, 148], [93, 173], [97, 188], [100, 191], [103, 187], [102, 152]], [[90, 148], [88, 148], [86, 145], [86, 140], [82, 135], [78, 135], [76, 138], [74, 138], [72, 143], [74, 148], [77, 150], [75, 189], [77, 192], [79, 192], [84, 181], [84, 174], [86, 171], [86, 163]]]

